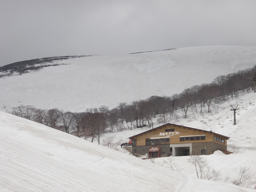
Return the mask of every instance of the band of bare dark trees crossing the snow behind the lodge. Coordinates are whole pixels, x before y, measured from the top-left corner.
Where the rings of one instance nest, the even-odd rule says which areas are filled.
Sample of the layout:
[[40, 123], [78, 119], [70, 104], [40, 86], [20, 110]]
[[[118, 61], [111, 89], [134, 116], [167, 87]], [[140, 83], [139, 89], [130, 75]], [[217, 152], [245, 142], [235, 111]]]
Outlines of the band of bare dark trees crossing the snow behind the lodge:
[[201, 113], [205, 106], [210, 112], [213, 102], [218, 104], [229, 97], [238, 98], [240, 93], [251, 89], [256, 92], [255, 77], [256, 65], [237, 73], [218, 76], [210, 84], [195, 85], [180, 94], [151, 96], [131, 103], [122, 102], [112, 109], [100, 106], [88, 108], [84, 112], [66, 112], [58, 108], [43, 110], [22, 105], [11, 108], [9, 112], [100, 144], [100, 136], [106, 132], [144, 126], [153, 128], [154, 118], [158, 123], [178, 121], [180, 116], [177, 110], [182, 111], [182, 118], [187, 118], [188, 110], [196, 106]]

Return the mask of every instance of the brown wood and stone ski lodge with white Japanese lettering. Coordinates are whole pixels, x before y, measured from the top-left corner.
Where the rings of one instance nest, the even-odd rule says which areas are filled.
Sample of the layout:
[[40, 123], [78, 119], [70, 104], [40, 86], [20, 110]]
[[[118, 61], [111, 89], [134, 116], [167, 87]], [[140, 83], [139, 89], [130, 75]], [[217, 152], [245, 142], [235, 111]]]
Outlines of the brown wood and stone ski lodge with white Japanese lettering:
[[132, 140], [132, 154], [148, 154], [149, 158], [166, 157], [171, 153], [172, 156], [210, 155], [216, 150], [231, 153], [227, 151], [227, 136], [170, 123], [129, 139]]

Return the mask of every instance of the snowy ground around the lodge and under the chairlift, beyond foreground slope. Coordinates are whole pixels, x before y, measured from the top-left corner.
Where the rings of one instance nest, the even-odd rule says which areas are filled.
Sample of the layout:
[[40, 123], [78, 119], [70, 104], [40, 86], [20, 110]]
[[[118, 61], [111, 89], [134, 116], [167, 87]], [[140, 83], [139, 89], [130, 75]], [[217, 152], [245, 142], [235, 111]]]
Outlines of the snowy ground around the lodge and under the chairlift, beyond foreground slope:
[[[221, 104], [213, 103], [211, 112], [207, 112], [207, 107], [203, 108], [203, 112], [199, 112], [199, 108], [191, 106], [188, 112], [188, 118], [182, 118], [182, 111], [176, 111], [180, 118], [178, 122], [171, 120], [170, 123], [178, 124], [202, 130], [212, 130], [218, 134], [230, 137], [227, 141], [228, 150], [235, 152], [235, 154], [224, 155], [222, 152], [216, 152], [212, 155], [202, 156], [209, 162], [209, 166], [215, 170], [220, 171], [221, 180], [229, 177], [227, 182], [238, 177], [240, 167], [249, 168], [250, 174], [256, 175], [256, 93], [243, 93], [239, 98], [229, 98]], [[251, 103], [251, 105], [250, 105]], [[239, 110], [236, 111], [236, 125], [234, 123], [234, 111], [230, 111], [230, 104], [238, 104]], [[237, 108], [237, 109], [238, 109]], [[155, 122], [154, 128], [160, 126]], [[150, 128], [137, 128], [133, 130], [125, 130], [123, 132], [112, 133], [116, 140], [126, 140], [128, 137], [139, 134]], [[105, 134], [108, 137], [110, 134]], [[102, 140], [104, 139], [102, 138]], [[197, 178], [196, 171], [192, 164], [187, 162], [187, 156], [172, 157], [172, 163], [180, 168], [180, 172]], [[149, 161], [149, 160], [148, 160]], [[169, 157], [156, 158], [155, 164], [160, 164], [168, 168], [167, 163]], [[253, 179], [256, 184], [256, 179]]]

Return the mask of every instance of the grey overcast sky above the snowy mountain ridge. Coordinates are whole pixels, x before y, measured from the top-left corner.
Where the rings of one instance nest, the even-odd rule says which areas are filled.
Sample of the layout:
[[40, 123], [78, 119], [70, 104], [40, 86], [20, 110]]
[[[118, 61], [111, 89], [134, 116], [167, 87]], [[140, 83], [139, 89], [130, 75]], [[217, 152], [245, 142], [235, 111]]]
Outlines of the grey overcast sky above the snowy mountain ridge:
[[0, 66], [51, 56], [256, 46], [256, 0], [0, 3]]

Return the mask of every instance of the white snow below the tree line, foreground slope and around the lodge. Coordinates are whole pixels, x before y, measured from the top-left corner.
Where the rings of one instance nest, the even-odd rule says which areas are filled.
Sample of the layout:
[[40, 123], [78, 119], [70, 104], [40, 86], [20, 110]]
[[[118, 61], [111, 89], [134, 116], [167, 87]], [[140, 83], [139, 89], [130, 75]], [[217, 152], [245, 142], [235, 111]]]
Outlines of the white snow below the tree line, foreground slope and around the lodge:
[[[204, 130], [211, 128], [214, 132], [230, 137], [228, 146], [235, 144], [240, 147], [237, 154], [224, 155], [216, 151], [212, 155], [202, 156], [211, 167], [220, 170], [220, 181], [196, 178], [194, 167], [187, 162], [188, 156], [171, 157], [172, 162], [180, 167], [180, 172], [176, 172], [166, 165], [159, 165], [170, 157], [156, 158], [155, 163], [151, 163], [97, 145], [96, 142], [0, 112], [0, 191], [255, 191], [235, 186], [230, 181], [224, 182], [224, 177], [229, 176], [230, 180], [237, 178], [239, 168], [243, 166], [250, 168], [250, 173], [256, 175], [256, 106], [242, 108], [255, 98], [256, 94], [250, 92], [229, 100], [231, 104], [233, 102], [240, 106], [237, 125], [232, 125], [233, 122], [226, 118], [226, 115], [232, 114], [228, 102], [220, 104], [217, 110], [212, 109], [212, 113], [197, 114], [194, 111], [193, 114], [191, 110], [189, 118], [180, 118], [176, 122]], [[219, 125], [219, 121], [223, 122], [224, 127]], [[154, 124], [154, 128], [156, 126], [158, 124]], [[116, 140], [127, 140], [148, 129], [125, 130], [112, 135]]]

